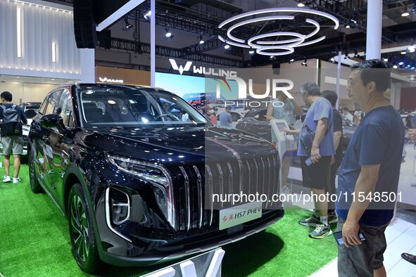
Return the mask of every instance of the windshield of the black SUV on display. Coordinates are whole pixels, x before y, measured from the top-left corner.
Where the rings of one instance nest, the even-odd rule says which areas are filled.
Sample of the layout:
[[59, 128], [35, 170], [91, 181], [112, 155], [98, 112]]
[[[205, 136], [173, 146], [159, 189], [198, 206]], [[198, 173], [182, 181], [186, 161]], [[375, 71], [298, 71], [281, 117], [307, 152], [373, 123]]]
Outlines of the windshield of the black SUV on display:
[[203, 115], [167, 91], [103, 87], [82, 90], [80, 100], [86, 127], [206, 124]]

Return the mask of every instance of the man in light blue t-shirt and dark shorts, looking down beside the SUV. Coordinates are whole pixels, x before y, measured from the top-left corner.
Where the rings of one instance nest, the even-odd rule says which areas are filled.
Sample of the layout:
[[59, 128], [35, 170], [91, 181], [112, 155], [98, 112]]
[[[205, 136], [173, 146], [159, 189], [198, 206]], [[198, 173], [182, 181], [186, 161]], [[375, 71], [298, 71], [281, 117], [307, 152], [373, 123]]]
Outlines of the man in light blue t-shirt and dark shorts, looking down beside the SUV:
[[[315, 213], [299, 221], [299, 224], [315, 226], [315, 230], [309, 233], [310, 238], [325, 238], [332, 234], [328, 223], [328, 199], [325, 195], [329, 167], [335, 154], [332, 105], [321, 97], [320, 87], [313, 82], [303, 84], [301, 93], [305, 104], [310, 106], [303, 127], [300, 131], [286, 132], [299, 134], [298, 156], [301, 157], [303, 186], [310, 188], [317, 197], [313, 198]], [[308, 141], [310, 145], [305, 145]]]

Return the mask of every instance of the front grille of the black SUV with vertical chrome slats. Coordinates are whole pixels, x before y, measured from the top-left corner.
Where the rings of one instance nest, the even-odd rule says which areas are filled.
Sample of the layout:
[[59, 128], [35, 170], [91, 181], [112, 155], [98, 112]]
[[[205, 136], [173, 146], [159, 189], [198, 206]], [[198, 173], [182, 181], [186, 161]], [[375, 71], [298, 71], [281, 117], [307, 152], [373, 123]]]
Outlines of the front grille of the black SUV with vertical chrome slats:
[[[265, 193], [270, 196], [278, 191], [279, 168], [277, 155], [170, 168], [175, 229], [217, 229], [219, 210], [231, 203], [213, 205], [213, 193]], [[273, 209], [272, 203], [263, 203], [263, 209]]]

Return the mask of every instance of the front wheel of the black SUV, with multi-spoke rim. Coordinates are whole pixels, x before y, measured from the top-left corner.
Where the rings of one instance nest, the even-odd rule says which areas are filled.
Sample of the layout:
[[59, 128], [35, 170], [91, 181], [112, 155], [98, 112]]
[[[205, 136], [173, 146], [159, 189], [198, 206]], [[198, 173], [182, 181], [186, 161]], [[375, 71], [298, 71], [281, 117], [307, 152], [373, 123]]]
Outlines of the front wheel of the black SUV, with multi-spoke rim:
[[101, 263], [91, 217], [82, 186], [75, 183], [68, 198], [70, 240], [78, 266], [87, 273], [94, 273]]

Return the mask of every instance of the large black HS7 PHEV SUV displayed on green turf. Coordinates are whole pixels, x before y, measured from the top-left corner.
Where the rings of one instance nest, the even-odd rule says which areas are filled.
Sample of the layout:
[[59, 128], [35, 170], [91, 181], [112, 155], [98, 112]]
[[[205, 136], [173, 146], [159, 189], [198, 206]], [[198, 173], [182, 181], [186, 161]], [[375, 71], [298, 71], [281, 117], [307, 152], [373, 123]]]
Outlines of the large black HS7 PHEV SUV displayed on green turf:
[[60, 86], [34, 117], [29, 145], [30, 187], [46, 191], [68, 218], [73, 255], [87, 272], [101, 260], [137, 266], [194, 255], [262, 231], [284, 214], [275, 202], [256, 219], [219, 228], [225, 219], [206, 193], [215, 183], [234, 191], [277, 188], [277, 150], [214, 127], [168, 91]]

